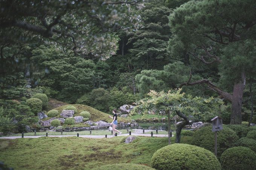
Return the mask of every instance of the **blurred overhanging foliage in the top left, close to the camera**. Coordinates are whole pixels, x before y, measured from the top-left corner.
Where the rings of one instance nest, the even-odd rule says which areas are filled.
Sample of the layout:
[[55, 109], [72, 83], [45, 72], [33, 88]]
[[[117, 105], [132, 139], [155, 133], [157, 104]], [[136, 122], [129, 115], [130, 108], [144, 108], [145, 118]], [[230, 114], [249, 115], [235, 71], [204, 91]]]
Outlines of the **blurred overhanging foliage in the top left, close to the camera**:
[[[117, 29], [141, 22], [143, 0], [2, 0], [0, 39], [7, 44], [43, 39], [77, 55], [105, 59], [115, 54]], [[63, 46], [64, 45], [64, 46]]]

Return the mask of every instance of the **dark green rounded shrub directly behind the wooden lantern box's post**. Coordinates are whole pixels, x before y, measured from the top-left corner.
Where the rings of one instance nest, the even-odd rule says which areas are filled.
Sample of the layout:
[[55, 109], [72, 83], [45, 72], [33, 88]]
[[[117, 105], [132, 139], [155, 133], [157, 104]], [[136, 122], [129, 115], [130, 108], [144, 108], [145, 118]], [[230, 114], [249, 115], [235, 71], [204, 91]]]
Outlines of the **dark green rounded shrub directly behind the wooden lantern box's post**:
[[[238, 139], [236, 132], [223, 125], [223, 130], [217, 132], [217, 155], [221, 156], [226, 149], [233, 147]], [[212, 126], [206, 126], [194, 132], [191, 144], [214, 153], [214, 142], [215, 132], [212, 132]]]

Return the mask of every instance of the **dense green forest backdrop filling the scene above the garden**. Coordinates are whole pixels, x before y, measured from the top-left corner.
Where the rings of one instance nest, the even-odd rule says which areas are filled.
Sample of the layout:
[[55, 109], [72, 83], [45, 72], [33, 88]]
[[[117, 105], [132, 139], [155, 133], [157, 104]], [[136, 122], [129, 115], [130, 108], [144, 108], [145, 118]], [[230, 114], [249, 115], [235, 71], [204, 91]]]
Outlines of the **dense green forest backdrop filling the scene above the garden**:
[[254, 0], [0, 6], [0, 122], [35, 121], [25, 101], [37, 93], [111, 113], [178, 88], [223, 100], [228, 123], [256, 121]]

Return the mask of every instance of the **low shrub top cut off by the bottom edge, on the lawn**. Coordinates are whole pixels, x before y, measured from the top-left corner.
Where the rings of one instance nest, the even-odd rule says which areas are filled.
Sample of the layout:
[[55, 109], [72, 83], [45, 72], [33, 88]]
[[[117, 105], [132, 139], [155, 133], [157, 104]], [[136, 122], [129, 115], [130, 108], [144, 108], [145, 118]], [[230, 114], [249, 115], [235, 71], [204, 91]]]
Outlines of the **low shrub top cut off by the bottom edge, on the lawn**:
[[154, 170], [151, 167], [140, 165], [140, 164], [110, 164], [110, 165], [103, 165], [101, 167], [93, 168], [93, 170]]

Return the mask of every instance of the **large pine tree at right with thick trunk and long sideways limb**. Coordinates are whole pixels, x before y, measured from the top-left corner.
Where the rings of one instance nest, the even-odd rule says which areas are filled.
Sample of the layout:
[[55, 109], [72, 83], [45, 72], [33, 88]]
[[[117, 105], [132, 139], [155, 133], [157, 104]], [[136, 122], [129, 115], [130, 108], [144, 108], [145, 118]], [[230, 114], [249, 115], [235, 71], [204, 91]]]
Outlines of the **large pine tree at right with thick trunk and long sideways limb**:
[[246, 76], [255, 70], [255, 8], [254, 0], [192, 0], [175, 9], [169, 17], [172, 55], [189, 53], [204, 64], [217, 63], [221, 76], [219, 82], [202, 79], [184, 82], [180, 87], [207, 84], [209, 90], [232, 102], [232, 124], [241, 124]]

